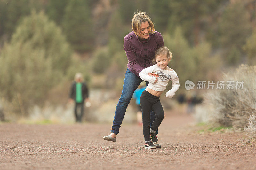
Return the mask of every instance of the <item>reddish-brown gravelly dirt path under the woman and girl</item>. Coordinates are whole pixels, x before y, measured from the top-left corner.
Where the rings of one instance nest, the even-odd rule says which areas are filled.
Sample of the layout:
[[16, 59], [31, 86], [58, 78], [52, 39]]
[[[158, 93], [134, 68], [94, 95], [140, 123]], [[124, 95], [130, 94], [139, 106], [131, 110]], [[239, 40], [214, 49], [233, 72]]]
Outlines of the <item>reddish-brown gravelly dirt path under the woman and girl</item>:
[[[198, 133], [187, 115], [166, 114], [161, 149], [144, 149], [142, 128], [123, 124], [0, 125], [0, 169], [256, 169], [256, 142], [237, 132]], [[136, 137], [131, 137], [136, 136]]]

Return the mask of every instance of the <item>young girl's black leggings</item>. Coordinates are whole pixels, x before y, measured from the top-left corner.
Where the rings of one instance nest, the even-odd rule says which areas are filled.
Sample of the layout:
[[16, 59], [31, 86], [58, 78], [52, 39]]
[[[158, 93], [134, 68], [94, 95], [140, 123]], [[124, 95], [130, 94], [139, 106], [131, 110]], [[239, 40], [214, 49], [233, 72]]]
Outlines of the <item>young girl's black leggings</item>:
[[164, 119], [164, 110], [159, 100], [160, 97], [150, 94], [144, 90], [140, 96], [140, 105], [142, 110], [143, 135], [145, 141], [150, 141], [150, 111], [156, 114], [156, 119], [151, 125], [152, 130], [157, 130]]

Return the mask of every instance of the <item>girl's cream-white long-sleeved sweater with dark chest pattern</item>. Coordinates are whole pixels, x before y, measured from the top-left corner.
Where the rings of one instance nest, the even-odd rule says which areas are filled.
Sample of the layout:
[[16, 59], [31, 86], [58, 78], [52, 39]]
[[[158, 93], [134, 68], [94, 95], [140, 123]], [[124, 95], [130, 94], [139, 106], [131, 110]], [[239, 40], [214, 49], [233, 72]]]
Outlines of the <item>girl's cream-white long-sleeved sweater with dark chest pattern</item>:
[[[155, 64], [153, 66], [143, 69], [139, 73], [139, 76], [142, 80], [149, 82], [148, 83], [149, 89], [152, 89], [155, 91], [164, 91], [166, 89], [168, 81], [171, 80], [172, 89], [167, 91], [165, 96], [172, 98], [175, 95], [175, 92], [179, 89], [180, 83], [179, 83], [179, 78], [175, 73], [175, 71], [169, 68], [168, 66], [167, 66], [167, 69], [168, 70], [161, 69], [157, 66], [157, 64]], [[153, 76], [153, 77], [149, 76], [148, 75], [149, 73], [156, 73], [157, 75], [159, 75], [156, 83], [154, 83], [156, 80], [156, 76]]]

